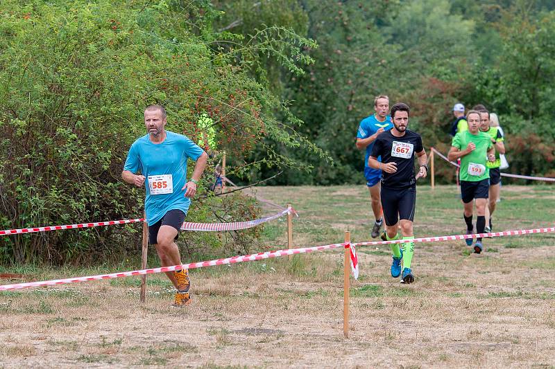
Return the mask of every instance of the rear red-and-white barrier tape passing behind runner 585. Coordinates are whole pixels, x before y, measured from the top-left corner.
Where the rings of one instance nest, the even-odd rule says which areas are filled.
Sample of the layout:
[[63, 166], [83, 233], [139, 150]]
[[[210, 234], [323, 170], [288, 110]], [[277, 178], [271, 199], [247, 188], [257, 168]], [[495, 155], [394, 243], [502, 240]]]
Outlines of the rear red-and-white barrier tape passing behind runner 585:
[[[270, 222], [273, 219], [283, 217], [289, 211], [296, 214], [295, 209], [287, 208], [281, 213], [270, 215], [268, 217], [248, 220], [245, 222], [233, 222], [233, 223], [192, 223], [184, 222], [181, 226], [182, 231], [238, 231], [240, 229], [247, 229], [257, 226], [259, 224]], [[298, 215], [297, 215], [298, 216]], [[94, 223], [80, 223], [80, 224], [66, 224], [64, 226], [46, 226], [46, 227], [32, 227], [32, 228], [19, 228], [19, 229], [6, 229], [0, 231], [0, 235], [15, 235], [19, 233], [34, 233], [34, 232], [46, 232], [46, 231], [60, 231], [62, 229], [74, 229], [74, 228], [90, 228], [97, 226], [113, 226], [115, 224], [128, 224], [136, 222], [145, 222], [144, 218], [138, 219], [123, 219], [123, 220], [112, 220], [110, 222], [94, 222]]]

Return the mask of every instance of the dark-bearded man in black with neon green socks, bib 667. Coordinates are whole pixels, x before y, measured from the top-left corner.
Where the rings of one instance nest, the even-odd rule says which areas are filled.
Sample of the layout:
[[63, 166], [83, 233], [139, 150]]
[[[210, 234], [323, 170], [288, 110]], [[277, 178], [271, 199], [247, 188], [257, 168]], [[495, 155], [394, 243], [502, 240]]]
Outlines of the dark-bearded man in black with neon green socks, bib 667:
[[[382, 208], [386, 221], [387, 240], [399, 240], [397, 234], [400, 223], [403, 235], [403, 248], [399, 244], [391, 244], [393, 264], [391, 276], [397, 278], [401, 274], [402, 282], [412, 283], [411, 271], [414, 253], [413, 220], [416, 207], [416, 180], [427, 175], [427, 155], [422, 146], [422, 138], [416, 132], [407, 129], [410, 108], [398, 102], [391, 108], [393, 128], [377, 136], [368, 158], [370, 168], [382, 170]], [[420, 170], [415, 175], [414, 156], [418, 157]], [[382, 163], [377, 161], [382, 156]]]

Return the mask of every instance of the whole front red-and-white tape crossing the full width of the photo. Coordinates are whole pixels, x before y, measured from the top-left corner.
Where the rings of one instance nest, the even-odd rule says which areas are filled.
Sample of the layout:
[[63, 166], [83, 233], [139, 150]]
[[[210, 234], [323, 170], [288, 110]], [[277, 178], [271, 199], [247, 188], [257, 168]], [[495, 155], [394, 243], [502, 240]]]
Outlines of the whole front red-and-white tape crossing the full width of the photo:
[[[448, 235], [448, 236], [438, 236], [438, 237], [420, 237], [420, 238], [413, 238], [412, 240], [354, 242], [351, 244], [345, 244], [345, 243], [328, 244], [324, 246], [305, 247], [301, 249], [284, 249], [284, 250], [278, 250], [278, 251], [267, 251], [265, 253], [255, 253], [251, 255], [234, 256], [232, 258], [216, 259], [216, 260], [210, 260], [206, 262], [194, 262], [191, 264], [174, 265], [172, 267], [160, 267], [160, 268], [142, 269], [142, 270], [136, 270], [136, 271], [123, 271], [119, 273], [100, 274], [98, 276], [74, 277], [74, 278], [65, 278], [65, 279], [58, 279], [58, 280], [44, 280], [42, 282], [26, 282], [26, 283], [16, 283], [13, 285], [0, 285], [0, 291], [8, 291], [11, 289], [23, 289], [23, 288], [31, 288], [31, 287], [65, 285], [67, 283], [88, 282], [89, 280], [103, 280], [103, 279], [111, 279], [111, 278], [140, 276], [142, 274], [164, 273], [166, 271], [176, 271], [179, 269], [196, 269], [196, 268], [204, 268], [204, 267], [214, 267], [216, 265], [235, 264], [238, 262], [251, 262], [255, 260], [277, 258], [279, 256], [284, 256], [284, 255], [296, 255], [298, 253], [310, 253], [313, 251], [337, 249], [339, 247], [346, 247], [346, 246], [368, 246], [368, 245], [379, 245], [379, 244], [394, 244], [398, 242], [442, 242], [442, 241], [464, 240], [470, 237], [501, 237], [501, 236], [529, 235], [532, 233], [550, 233], [550, 232], [555, 232], [555, 227], [523, 229], [519, 231], [477, 233], [474, 235]], [[353, 255], [351, 253], [351, 260], [352, 258], [353, 258]]]

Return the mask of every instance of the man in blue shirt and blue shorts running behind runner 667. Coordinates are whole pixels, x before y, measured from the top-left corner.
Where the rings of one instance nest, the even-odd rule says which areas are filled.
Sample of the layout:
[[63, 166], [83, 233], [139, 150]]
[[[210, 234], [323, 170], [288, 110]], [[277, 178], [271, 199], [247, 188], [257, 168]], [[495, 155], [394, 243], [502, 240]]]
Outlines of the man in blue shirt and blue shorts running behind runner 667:
[[[379, 235], [379, 228], [382, 227], [382, 204], [379, 197], [381, 186], [379, 180], [382, 178], [382, 171], [373, 169], [368, 166], [368, 157], [372, 152], [374, 141], [377, 136], [383, 132], [393, 128], [391, 117], [389, 114], [389, 98], [385, 95], [377, 96], [374, 99], [375, 114], [361, 120], [359, 131], [357, 132], [357, 149], [366, 148], [366, 156], [364, 157], [364, 177], [366, 177], [366, 186], [370, 190], [370, 199], [372, 200], [372, 211], [374, 213], [375, 222], [372, 227], [372, 237]], [[382, 161], [381, 156], [377, 158]]]

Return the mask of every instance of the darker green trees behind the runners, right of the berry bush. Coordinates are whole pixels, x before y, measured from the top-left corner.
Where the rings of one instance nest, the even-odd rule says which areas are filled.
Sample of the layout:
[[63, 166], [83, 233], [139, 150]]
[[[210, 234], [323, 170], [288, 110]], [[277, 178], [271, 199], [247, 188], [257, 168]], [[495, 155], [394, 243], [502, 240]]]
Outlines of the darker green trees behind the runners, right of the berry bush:
[[[288, 154], [314, 169], [286, 170], [271, 183], [363, 183], [364, 154], [355, 147], [355, 134], [382, 93], [392, 103], [407, 102], [411, 128], [425, 146], [442, 152], [450, 147], [454, 103], [482, 103], [499, 115], [506, 132], [508, 171], [555, 176], [554, 1], [244, 1], [226, 8], [219, 24], [236, 21], [230, 30], [241, 33], [271, 24], [262, 10], [248, 27], [240, 21], [253, 3], [257, 9], [282, 3], [275, 24], [298, 21], [299, 5], [307, 15], [307, 36], [319, 46], [310, 53], [316, 62], [305, 75], [282, 76], [281, 91], [305, 121], [300, 132], [334, 159], [293, 150]], [[275, 172], [262, 168], [255, 175]], [[454, 181], [448, 165], [438, 165], [436, 174], [440, 182]]]

